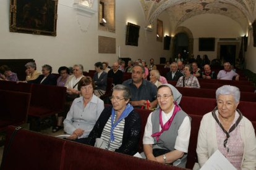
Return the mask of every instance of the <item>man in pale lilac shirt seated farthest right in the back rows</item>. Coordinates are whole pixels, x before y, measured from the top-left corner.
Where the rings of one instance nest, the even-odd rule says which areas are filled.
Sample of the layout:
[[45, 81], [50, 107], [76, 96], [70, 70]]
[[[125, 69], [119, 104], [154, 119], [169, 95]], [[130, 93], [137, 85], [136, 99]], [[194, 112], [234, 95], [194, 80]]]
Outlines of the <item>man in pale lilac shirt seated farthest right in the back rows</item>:
[[236, 76], [236, 81], [239, 81], [239, 75], [231, 70], [231, 65], [229, 62], [224, 63], [224, 70], [220, 70], [217, 79], [229, 79], [232, 80]]

